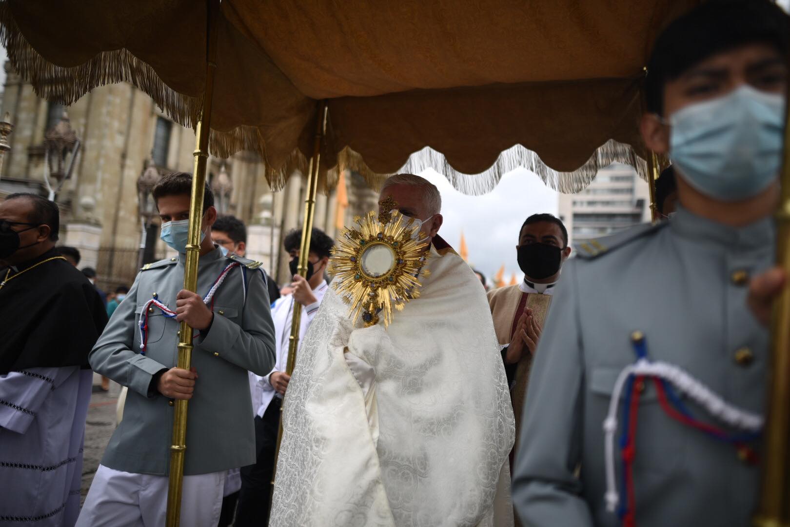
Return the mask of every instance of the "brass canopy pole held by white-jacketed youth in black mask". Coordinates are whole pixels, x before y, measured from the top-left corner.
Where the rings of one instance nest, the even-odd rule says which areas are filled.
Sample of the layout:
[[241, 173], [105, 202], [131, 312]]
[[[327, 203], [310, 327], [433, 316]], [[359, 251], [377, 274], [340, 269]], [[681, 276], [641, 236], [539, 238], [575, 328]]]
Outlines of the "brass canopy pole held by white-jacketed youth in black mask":
[[[326, 131], [326, 100], [323, 100], [318, 111], [318, 119], [315, 126], [315, 141], [313, 146], [313, 158], [310, 160], [310, 170], [307, 175], [307, 196], [304, 200], [304, 221], [302, 223], [302, 243], [299, 245], [299, 275], [307, 277], [307, 257], [310, 254], [310, 237], [313, 234], [313, 216], [315, 213], [315, 195], [318, 193], [318, 168], [321, 160], [321, 147]], [[291, 337], [288, 340], [288, 362], [285, 364], [285, 373], [291, 375], [294, 371], [296, 362], [296, 348], [299, 344], [299, 327], [302, 322], [302, 308], [294, 301], [293, 313], [291, 317]], [[272, 472], [272, 484], [277, 473], [277, 458], [280, 455], [280, 442], [283, 440], [283, 420], [282, 412], [285, 407], [285, 400], [280, 406], [280, 428], [277, 431], [277, 446], [274, 451], [274, 470]]]

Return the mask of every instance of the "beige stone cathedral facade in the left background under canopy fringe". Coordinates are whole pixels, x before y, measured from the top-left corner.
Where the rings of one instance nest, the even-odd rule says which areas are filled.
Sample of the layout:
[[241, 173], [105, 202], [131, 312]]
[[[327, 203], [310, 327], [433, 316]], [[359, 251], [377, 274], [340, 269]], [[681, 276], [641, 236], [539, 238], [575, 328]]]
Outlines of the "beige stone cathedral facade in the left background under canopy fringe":
[[[50, 169], [47, 145], [58, 134], [76, 137], [80, 146], [72, 171], [55, 193], [61, 209], [58, 245], [77, 247], [80, 267], [95, 268], [100, 287], [131, 285], [140, 262], [164, 258], [169, 250], [159, 239], [156, 214], [145, 216], [138, 184], [145, 183], [148, 168], [191, 172], [194, 131], [172, 122], [130, 84], [96, 88], [63, 107], [36, 96], [7, 63], [6, 73], [0, 115], [9, 116], [13, 131], [0, 170], [0, 199], [14, 192], [47, 196], [57, 189], [60, 182]], [[301, 227], [306, 178], [296, 172], [283, 190], [273, 193], [264, 171], [253, 152], [209, 158], [217, 209], [243, 220], [247, 256], [263, 262], [282, 284], [288, 280], [282, 237]], [[314, 226], [333, 237], [338, 225], [373, 210], [378, 198], [358, 175], [346, 173], [341, 182], [344, 192], [319, 194], [316, 202]]]

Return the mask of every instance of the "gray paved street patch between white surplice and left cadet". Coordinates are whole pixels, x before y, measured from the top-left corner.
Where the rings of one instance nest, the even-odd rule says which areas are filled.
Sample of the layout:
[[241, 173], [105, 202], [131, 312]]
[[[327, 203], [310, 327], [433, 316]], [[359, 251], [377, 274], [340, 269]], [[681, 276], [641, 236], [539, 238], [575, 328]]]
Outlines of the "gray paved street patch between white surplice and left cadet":
[[101, 377], [93, 374], [93, 393], [88, 406], [88, 420], [85, 423], [85, 454], [82, 465], [82, 500], [88, 494], [93, 475], [99, 468], [104, 449], [115, 430], [115, 403], [118, 401], [120, 386], [110, 382], [110, 391], [100, 390]]

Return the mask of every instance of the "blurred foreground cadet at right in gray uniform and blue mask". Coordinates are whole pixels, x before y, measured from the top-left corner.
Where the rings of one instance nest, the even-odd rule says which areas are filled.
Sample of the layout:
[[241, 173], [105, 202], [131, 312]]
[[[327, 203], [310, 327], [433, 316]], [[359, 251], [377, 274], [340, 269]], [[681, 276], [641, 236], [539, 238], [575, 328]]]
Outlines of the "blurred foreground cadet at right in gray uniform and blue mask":
[[768, 335], [747, 283], [773, 261], [787, 28], [771, 2], [704, 2], [656, 42], [642, 136], [679, 210], [566, 262], [514, 470], [525, 525], [750, 525]]

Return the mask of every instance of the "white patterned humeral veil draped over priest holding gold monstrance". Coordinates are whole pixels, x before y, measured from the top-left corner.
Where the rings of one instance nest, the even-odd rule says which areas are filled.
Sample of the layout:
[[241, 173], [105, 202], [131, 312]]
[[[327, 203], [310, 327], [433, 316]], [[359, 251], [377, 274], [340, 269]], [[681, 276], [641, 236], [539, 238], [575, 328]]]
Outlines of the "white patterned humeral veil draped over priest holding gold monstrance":
[[472, 269], [442, 252], [387, 329], [325, 295], [285, 397], [269, 525], [513, 525], [491, 311]]

